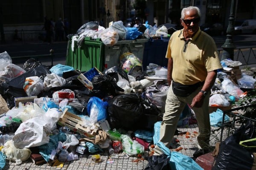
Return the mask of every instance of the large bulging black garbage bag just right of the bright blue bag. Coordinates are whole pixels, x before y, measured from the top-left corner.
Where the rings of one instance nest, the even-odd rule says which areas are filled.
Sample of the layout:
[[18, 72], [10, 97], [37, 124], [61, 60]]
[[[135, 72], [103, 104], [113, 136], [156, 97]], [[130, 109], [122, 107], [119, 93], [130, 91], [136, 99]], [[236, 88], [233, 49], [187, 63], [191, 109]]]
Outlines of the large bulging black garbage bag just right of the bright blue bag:
[[143, 116], [142, 98], [139, 94], [122, 94], [108, 101], [108, 122], [111, 128], [137, 130]]

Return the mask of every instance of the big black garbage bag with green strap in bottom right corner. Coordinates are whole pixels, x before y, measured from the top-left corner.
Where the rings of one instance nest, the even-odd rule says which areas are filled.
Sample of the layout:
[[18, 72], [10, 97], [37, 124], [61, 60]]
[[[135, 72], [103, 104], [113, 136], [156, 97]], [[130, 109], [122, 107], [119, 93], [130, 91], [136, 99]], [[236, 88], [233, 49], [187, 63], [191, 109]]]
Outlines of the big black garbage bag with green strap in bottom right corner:
[[[251, 170], [255, 150], [248, 150], [239, 142], [255, 138], [254, 129], [252, 122], [248, 121], [221, 142], [212, 170]], [[251, 143], [251, 146], [256, 146], [255, 142]]]

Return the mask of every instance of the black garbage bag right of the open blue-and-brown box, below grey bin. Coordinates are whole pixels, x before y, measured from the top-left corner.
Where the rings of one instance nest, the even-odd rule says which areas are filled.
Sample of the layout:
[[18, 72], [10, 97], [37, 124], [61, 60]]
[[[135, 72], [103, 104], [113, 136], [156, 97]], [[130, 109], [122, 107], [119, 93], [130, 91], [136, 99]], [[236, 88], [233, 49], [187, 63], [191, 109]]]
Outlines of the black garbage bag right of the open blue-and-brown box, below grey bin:
[[105, 98], [106, 96], [117, 96], [116, 91], [124, 91], [120, 88], [113, 77], [109, 75], [96, 75], [92, 79], [93, 90], [101, 91], [101, 97]]

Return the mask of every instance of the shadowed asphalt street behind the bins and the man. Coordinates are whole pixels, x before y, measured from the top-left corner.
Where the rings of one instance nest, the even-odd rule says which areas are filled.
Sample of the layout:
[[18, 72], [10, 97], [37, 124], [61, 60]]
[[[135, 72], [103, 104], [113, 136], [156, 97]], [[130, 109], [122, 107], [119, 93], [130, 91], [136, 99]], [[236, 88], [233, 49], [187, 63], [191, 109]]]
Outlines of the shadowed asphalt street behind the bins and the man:
[[[213, 37], [218, 49], [224, 44], [225, 36]], [[233, 43], [237, 48], [239, 47], [256, 47], [256, 35], [235, 35], [233, 36]], [[53, 65], [58, 63], [65, 65], [67, 53], [67, 41], [53, 42], [47, 44], [46, 42], [11, 42], [8, 44], [0, 45], [0, 53], [7, 51], [11, 57], [17, 56], [35, 56], [49, 54], [50, 49], [54, 50]], [[27, 58], [28, 59], [28, 58]], [[26, 60], [27, 60], [26, 59]], [[13, 59], [12, 63], [16, 65], [23, 65], [26, 61], [24, 59]], [[42, 58], [40, 61], [49, 65], [50, 58]]]

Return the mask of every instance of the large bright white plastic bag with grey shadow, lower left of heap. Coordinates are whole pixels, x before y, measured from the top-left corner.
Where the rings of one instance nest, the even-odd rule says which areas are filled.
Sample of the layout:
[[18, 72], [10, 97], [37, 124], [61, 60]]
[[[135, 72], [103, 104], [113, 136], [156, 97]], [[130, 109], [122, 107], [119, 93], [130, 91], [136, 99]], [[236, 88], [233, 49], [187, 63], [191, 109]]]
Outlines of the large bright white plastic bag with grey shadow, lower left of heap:
[[47, 122], [42, 118], [32, 118], [22, 122], [15, 132], [12, 140], [17, 148], [29, 148], [47, 144], [49, 130], [45, 127]]

